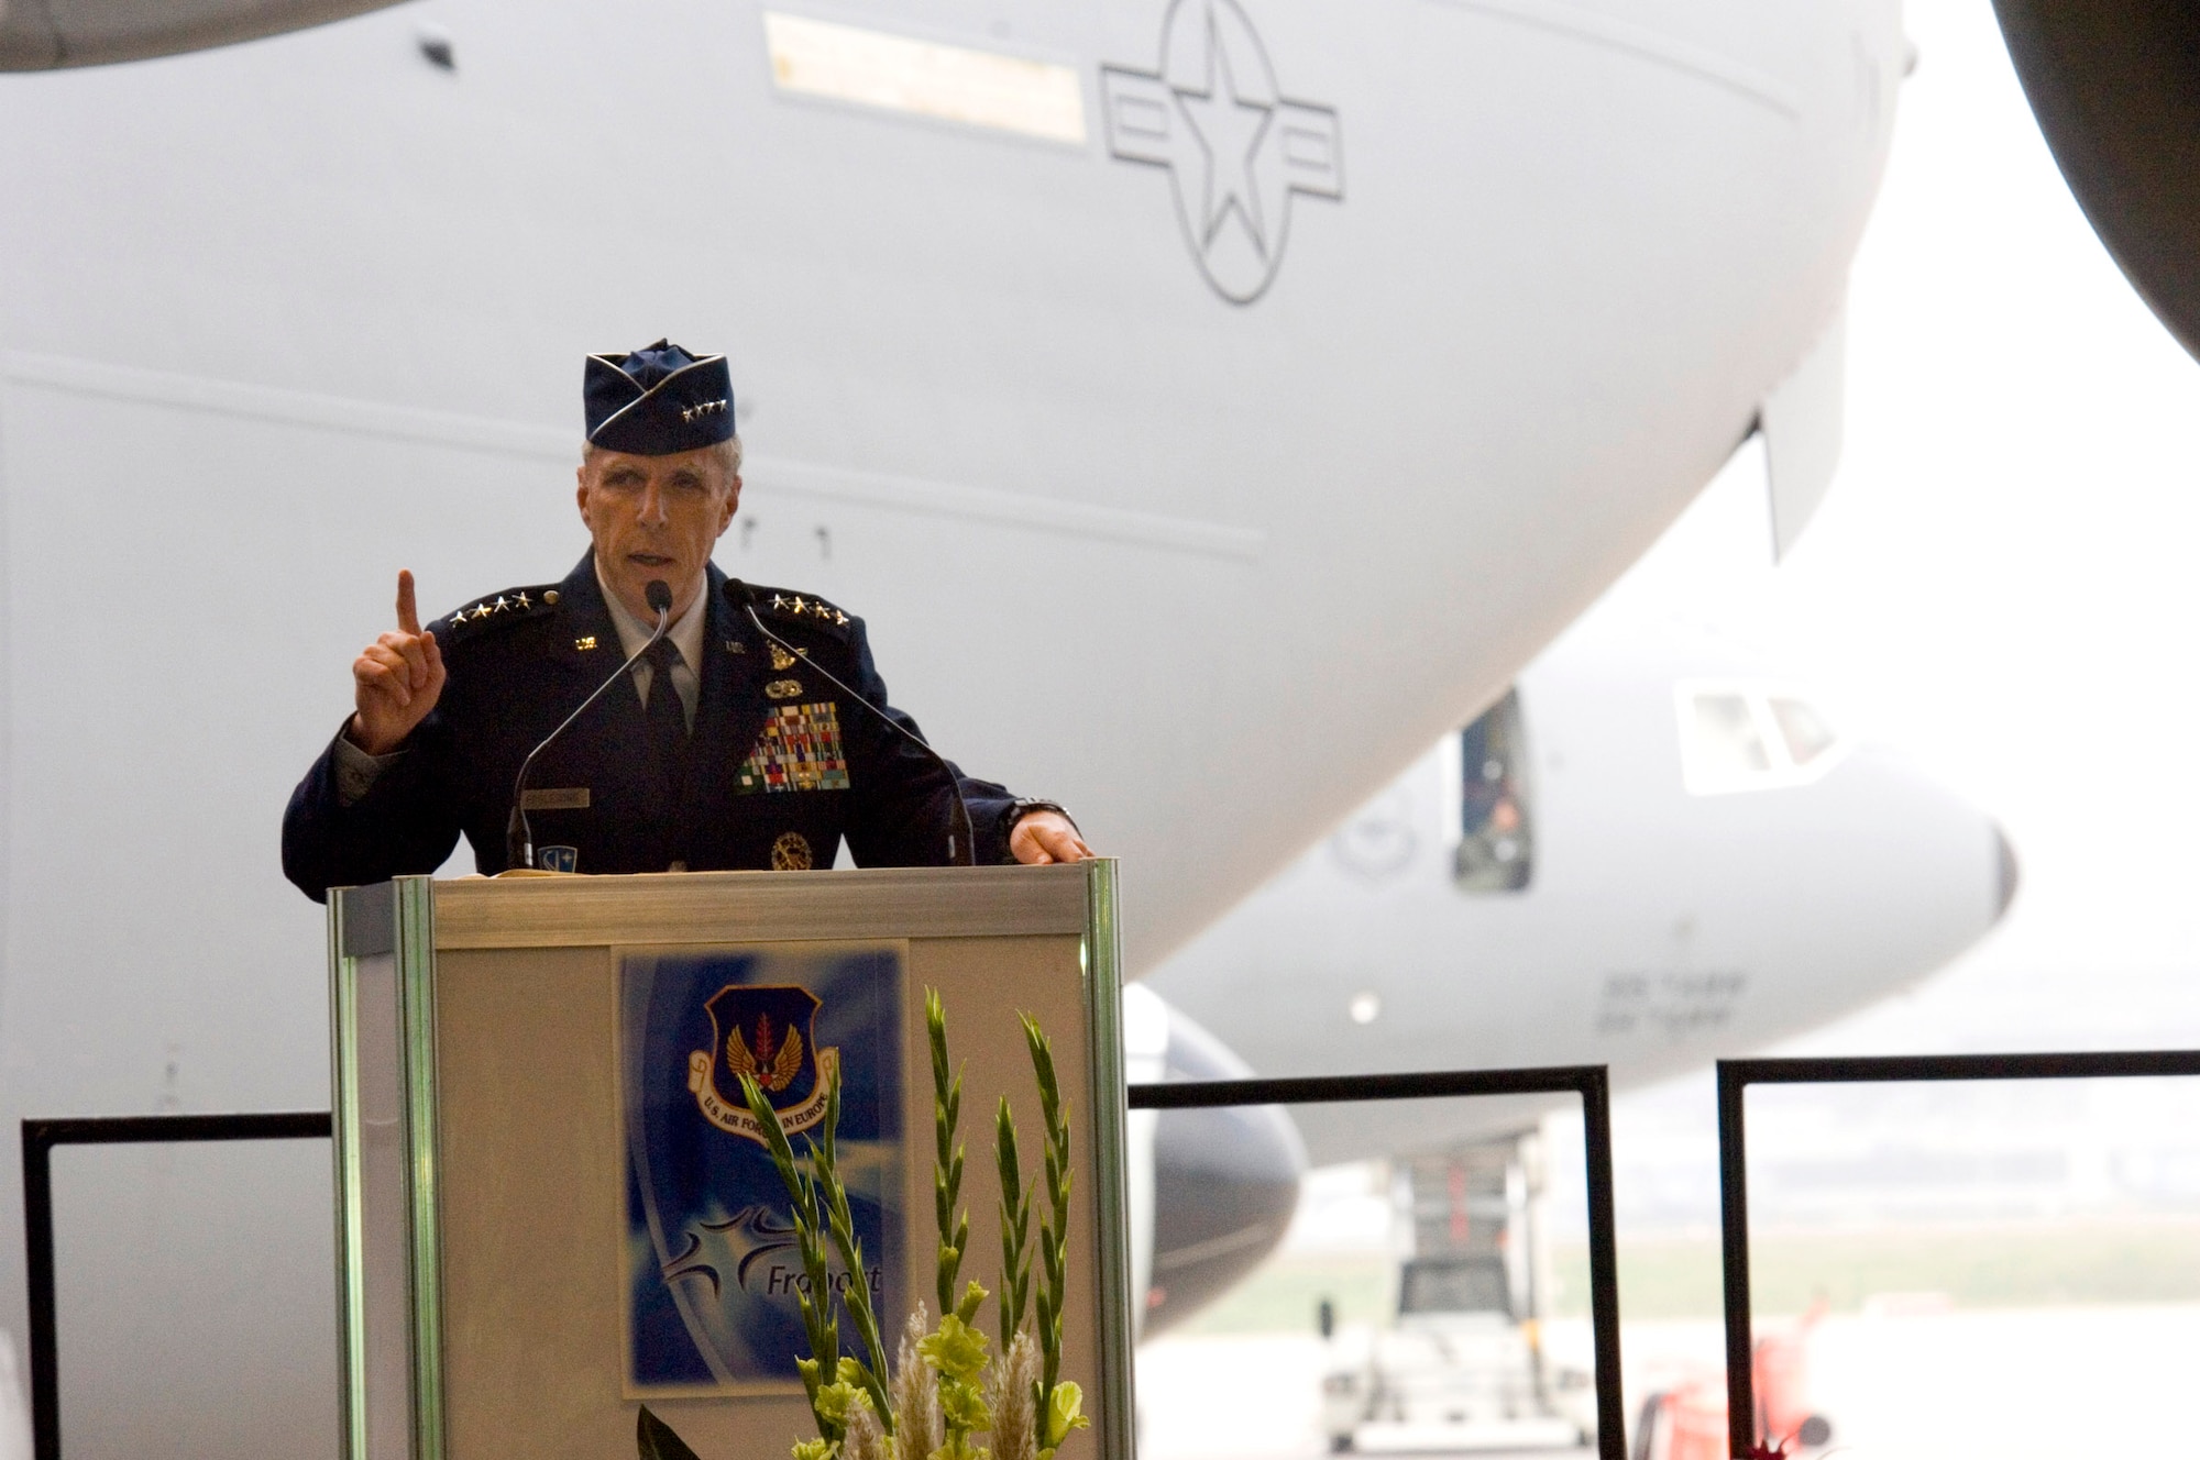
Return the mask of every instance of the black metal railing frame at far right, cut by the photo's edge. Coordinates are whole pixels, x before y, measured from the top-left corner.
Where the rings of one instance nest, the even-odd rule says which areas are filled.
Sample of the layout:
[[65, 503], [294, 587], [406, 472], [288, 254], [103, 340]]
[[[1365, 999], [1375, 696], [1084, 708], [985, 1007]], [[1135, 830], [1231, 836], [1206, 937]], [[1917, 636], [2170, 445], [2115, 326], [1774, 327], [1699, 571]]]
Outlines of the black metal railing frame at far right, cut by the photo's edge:
[[[1751, 1084], [1903, 1084], [1940, 1080], [2116, 1080], [2200, 1075], [2200, 1051], [2152, 1049], [2050, 1055], [1830, 1055], [1718, 1062], [1718, 1242], [1727, 1297], [1727, 1449], [1747, 1460], [1758, 1436], [1749, 1315], [1749, 1165], [1742, 1095]], [[1747, 1429], [1734, 1416], [1749, 1416]]]

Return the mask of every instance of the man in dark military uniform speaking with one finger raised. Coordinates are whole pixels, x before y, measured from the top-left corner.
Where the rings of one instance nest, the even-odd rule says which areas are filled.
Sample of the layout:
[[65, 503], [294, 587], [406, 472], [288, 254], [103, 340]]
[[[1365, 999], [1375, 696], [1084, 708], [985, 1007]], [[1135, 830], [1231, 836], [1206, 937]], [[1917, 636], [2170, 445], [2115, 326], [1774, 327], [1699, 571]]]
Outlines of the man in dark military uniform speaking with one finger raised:
[[[537, 866], [785, 871], [832, 866], [843, 838], [865, 866], [948, 862], [948, 772], [821, 673], [915, 732], [887, 706], [862, 620], [814, 594], [744, 594], [711, 563], [741, 499], [726, 358], [667, 341], [596, 354], [583, 402], [594, 548], [563, 583], [491, 594], [427, 629], [398, 574], [398, 627], [352, 664], [354, 715], [284, 814], [290, 882], [321, 899], [427, 873], [460, 833], [484, 873], [504, 871], [521, 763], [649, 642], [651, 583], [671, 589], [669, 633], [528, 772]], [[955, 774], [977, 862], [1091, 855], [1060, 807]]]

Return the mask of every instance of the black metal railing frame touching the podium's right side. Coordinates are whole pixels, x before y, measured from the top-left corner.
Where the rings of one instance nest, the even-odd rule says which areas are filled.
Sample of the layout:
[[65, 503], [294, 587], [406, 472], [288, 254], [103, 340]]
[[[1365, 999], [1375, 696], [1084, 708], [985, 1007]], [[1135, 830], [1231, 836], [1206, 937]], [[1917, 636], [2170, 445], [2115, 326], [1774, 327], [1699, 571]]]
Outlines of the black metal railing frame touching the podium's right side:
[[1324, 1106], [1459, 1095], [1580, 1095], [1582, 1099], [1582, 1143], [1588, 1159], [1588, 1321], [1597, 1350], [1597, 1456], [1599, 1460], [1626, 1460], [1628, 1423], [1619, 1390], [1619, 1240], [1613, 1223], [1613, 1095], [1602, 1064], [1133, 1084], [1131, 1108]]

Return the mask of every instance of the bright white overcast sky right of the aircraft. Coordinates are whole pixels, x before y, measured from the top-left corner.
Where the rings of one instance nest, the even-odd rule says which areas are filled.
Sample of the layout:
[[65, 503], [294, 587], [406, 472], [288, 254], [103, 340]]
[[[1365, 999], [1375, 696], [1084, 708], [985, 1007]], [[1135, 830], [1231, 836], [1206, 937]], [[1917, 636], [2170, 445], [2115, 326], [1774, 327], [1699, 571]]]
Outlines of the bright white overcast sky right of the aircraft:
[[1767, 609], [2024, 884], [1811, 1049], [2200, 1042], [2200, 365], [2055, 169], [1982, 0], [1910, 0], [1848, 312], [1841, 471]]

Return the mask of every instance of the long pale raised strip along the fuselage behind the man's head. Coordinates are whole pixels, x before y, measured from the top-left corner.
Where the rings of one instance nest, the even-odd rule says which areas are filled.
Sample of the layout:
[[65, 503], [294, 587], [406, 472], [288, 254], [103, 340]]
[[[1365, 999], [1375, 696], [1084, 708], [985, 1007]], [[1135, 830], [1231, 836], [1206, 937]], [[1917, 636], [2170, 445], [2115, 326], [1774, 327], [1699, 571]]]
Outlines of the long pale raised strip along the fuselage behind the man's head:
[[[530, 427], [526, 422], [427, 411], [374, 400], [345, 400], [341, 396], [244, 385], [240, 380], [178, 376], [75, 356], [9, 352], [0, 356], [0, 378], [11, 387], [103, 396], [110, 400], [165, 405], [211, 416], [240, 416], [246, 420], [383, 440], [493, 451], [557, 462], [561, 466], [579, 460], [579, 433], [557, 427]], [[748, 457], [744, 477], [766, 497], [788, 493], [891, 512], [986, 521], [1005, 528], [1107, 539], [1137, 548], [1243, 563], [1256, 563], [1267, 548], [1267, 532], [1258, 528], [1133, 512], [1085, 501], [1052, 501], [983, 486], [849, 471], [770, 455]]]

